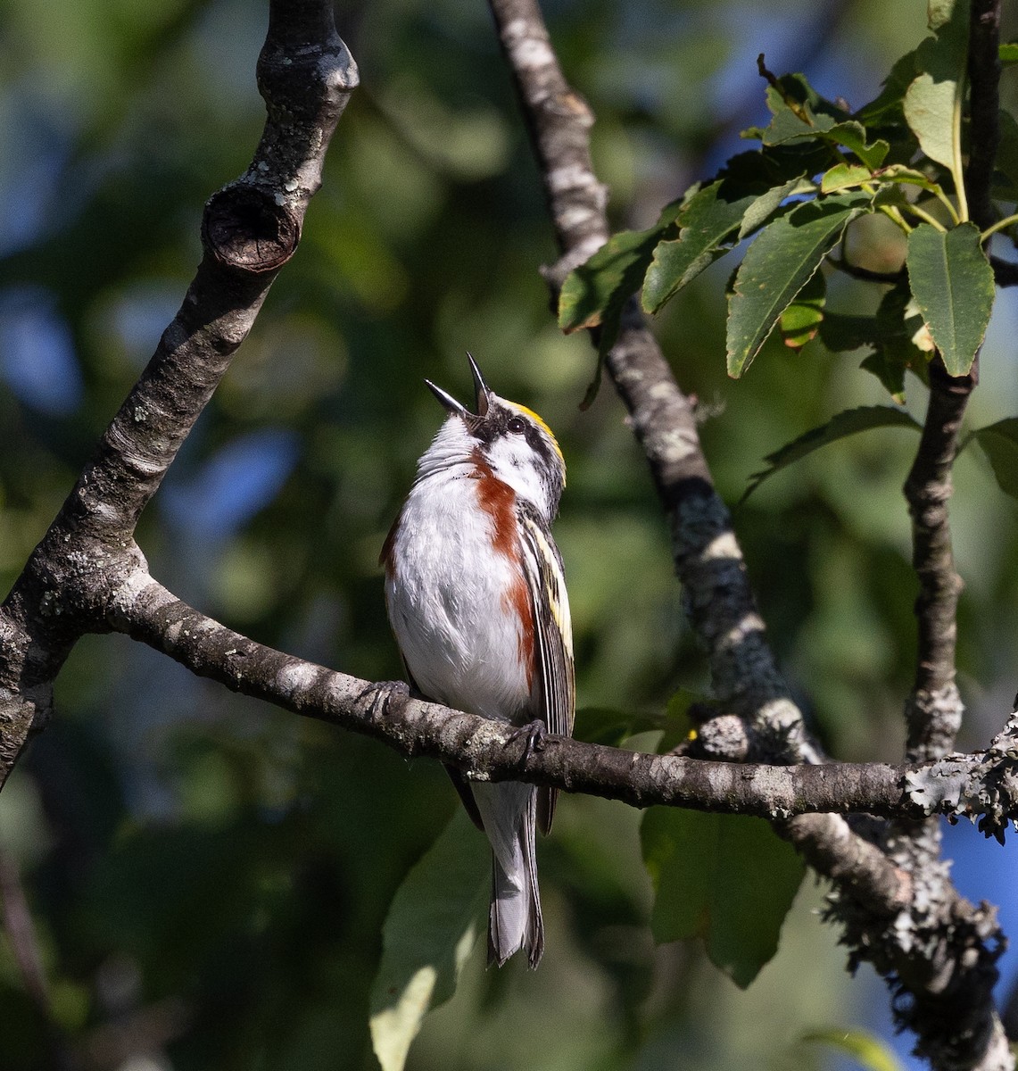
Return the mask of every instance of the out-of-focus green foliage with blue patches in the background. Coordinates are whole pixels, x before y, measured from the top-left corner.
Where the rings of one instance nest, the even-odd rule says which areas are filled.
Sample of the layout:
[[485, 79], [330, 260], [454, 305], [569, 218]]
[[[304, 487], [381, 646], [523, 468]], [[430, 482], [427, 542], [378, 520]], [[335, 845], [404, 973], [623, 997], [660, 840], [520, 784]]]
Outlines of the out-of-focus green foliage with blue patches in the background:
[[[717, 169], [765, 122], [755, 65], [865, 101], [923, 35], [925, 5], [765, 9], [739, 0], [548, 4], [567, 76], [597, 115], [619, 227]], [[0, 572], [10, 584], [173, 315], [204, 199], [257, 141], [253, 0], [6, 0], [0, 28]], [[537, 266], [553, 258], [538, 177], [483, 4], [344, 6], [362, 75], [304, 240], [142, 518], [154, 574], [260, 640], [365, 678], [399, 675], [377, 556], [440, 413], [423, 389], [496, 389], [556, 429], [569, 484], [566, 562], [581, 706], [633, 724], [705, 693], [669, 539], [608, 390], [562, 336]], [[1015, 84], [1005, 81], [1005, 103]], [[892, 241], [887, 239], [886, 241]], [[880, 268], [880, 263], [873, 267]], [[700, 399], [718, 487], [846, 408], [883, 402], [859, 355], [766, 344], [725, 375], [728, 269], [657, 321]], [[827, 306], [876, 312], [833, 281]], [[1018, 411], [1012, 302], [990, 325], [972, 426]], [[909, 406], [922, 416], [923, 389]], [[985, 443], [984, 443], [985, 446]], [[830, 751], [894, 759], [915, 584], [900, 484], [914, 438], [842, 439], [779, 472], [736, 526], [771, 638]], [[962, 743], [1014, 693], [1018, 525], [979, 451], [957, 468], [967, 580]], [[992, 532], [992, 539], [987, 533]], [[54, 1014], [86, 1068], [370, 1068], [369, 991], [394, 891], [453, 814], [444, 774], [192, 678], [123, 637], [89, 637], [58, 715], [3, 794]], [[624, 719], [623, 719], [624, 721]], [[590, 734], [604, 731], [603, 722]], [[580, 726], [580, 733], [583, 729]], [[653, 743], [653, 741], [652, 741]], [[478, 942], [411, 1068], [809, 1068], [807, 1030], [849, 1026], [860, 989], [804, 888], [745, 993], [692, 946], [654, 948], [640, 816], [564, 799], [541, 846], [548, 951], [485, 971]], [[0, 1067], [49, 1067], [45, 1025], [0, 940]]]

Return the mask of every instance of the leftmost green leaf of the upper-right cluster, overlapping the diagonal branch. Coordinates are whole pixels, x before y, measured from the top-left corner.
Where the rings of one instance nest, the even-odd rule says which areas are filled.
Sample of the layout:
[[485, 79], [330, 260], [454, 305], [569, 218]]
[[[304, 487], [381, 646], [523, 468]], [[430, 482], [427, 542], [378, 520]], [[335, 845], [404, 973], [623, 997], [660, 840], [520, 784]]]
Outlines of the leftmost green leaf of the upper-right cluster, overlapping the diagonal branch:
[[[696, 196], [696, 195], [694, 195]], [[566, 276], [559, 296], [559, 327], [569, 334], [618, 318], [640, 288], [657, 243], [672, 229], [682, 202], [667, 205], [653, 227], [621, 230]], [[610, 348], [610, 347], [609, 347]]]

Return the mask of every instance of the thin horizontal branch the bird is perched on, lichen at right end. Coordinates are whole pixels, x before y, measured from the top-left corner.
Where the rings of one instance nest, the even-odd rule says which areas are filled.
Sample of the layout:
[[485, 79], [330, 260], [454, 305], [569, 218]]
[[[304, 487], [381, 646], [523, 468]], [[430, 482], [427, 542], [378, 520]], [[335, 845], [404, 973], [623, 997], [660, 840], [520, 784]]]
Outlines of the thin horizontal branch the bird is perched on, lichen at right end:
[[[181, 602], [143, 570], [117, 593], [109, 624], [231, 691], [374, 737], [408, 758], [439, 759], [478, 781], [527, 781], [638, 808], [666, 804], [771, 819], [979, 814], [992, 826], [988, 831], [997, 832], [1018, 813], [1008, 781], [1018, 743], [1009, 735], [986, 754], [912, 766], [739, 765], [558, 736], [528, 754], [511, 725], [413, 698], [400, 682], [360, 680], [258, 644]], [[1018, 720], [1012, 729], [1018, 740]], [[996, 802], [979, 802], [981, 796]]]

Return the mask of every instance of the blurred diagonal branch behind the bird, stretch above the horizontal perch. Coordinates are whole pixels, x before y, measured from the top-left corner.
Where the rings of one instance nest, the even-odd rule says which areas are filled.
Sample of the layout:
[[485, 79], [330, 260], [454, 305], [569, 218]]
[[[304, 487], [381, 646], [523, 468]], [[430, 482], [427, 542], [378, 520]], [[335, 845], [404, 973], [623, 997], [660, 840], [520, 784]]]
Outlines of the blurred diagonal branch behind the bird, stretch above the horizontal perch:
[[[593, 116], [568, 86], [535, 0], [490, 0], [541, 167], [561, 251], [544, 270], [562, 281], [608, 238], [607, 193], [590, 155]], [[731, 516], [714, 489], [693, 405], [630, 301], [606, 366], [622, 398], [668, 516], [672, 556], [694, 630], [710, 661], [715, 696], [758, 721], [770, 755], [817, 757], [775, 665], [746, 578]], [[766, 752], [765, 752], [766, 753]]]

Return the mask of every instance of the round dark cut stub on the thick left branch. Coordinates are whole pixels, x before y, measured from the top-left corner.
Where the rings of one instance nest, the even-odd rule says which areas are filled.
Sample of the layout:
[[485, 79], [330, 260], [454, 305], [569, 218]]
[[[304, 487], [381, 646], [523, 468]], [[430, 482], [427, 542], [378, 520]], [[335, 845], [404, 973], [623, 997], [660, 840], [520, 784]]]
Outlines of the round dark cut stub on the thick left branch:
[[300, 240], [300, 217], [246, 182], [224, 186], [206, 203], [201, 244], [224, 268], [255, 274], [276, 271], [293, 256]]

